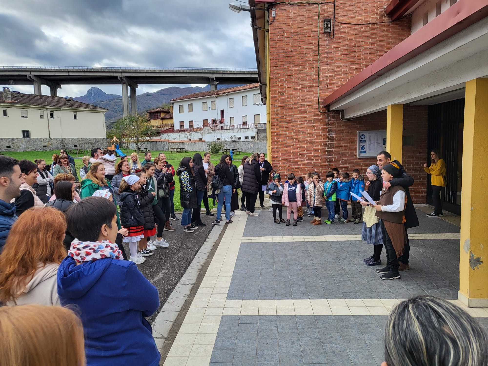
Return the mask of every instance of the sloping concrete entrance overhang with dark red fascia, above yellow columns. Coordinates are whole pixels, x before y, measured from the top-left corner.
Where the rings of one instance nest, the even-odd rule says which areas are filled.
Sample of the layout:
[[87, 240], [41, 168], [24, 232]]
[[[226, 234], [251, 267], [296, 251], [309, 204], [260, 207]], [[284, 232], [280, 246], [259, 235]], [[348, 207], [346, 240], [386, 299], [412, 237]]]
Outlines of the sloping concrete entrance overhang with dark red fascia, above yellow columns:
[[[464, 82], [487, 76], [486, 15], [488, 0], [474, 5], [473, 1], [459, 1], [326, 97], [324, 105], [329, 110], [344, 110], [346, 118], [359, 117], [389, 104], [459, 90]], [[453, 27], [462, 30], [453, 33]]]

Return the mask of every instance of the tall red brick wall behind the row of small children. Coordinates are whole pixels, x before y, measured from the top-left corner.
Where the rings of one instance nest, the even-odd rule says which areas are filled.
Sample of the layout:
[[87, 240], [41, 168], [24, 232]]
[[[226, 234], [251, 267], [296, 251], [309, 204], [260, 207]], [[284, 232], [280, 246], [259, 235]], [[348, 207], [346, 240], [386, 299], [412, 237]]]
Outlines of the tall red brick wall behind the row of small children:
[[[336, 20], [387, 21], [384, 7], [389, 2], [337, 1]], [[376, 159], [357, 158], [357, 131], [386, 129], [386, 111], [353, 121], [341, 121], [337, 112], [320, 113], [317, 95], [318, 6], [278, 4], [275, 8], [276, 18], [269, 31], [273, 167], [282, 174], [294, 172], [301, 175], [313, 170], [324, 174], [333, 167], [351, 173], [352, 169], [358, 168], [366, 176], [367, 167]], [[324, 18], [333, 18], [332, 11], [332, 4], [321, 6], [321, 29]], [[409, 35], [409, 18], [370, 25], [336, 22], [333, 39], [321, 30], [320, 100]], [[409, 173], [415, 172], [414, 202], [425, 202], [425, 174], [418, 175], [426, 155], [425, 108], [406, 106], [404, 127], [408, 134], [414, 135], [415, 145], [404, 148], [403, 163]], [[415, 169], [413, 164], [416, 164]]]

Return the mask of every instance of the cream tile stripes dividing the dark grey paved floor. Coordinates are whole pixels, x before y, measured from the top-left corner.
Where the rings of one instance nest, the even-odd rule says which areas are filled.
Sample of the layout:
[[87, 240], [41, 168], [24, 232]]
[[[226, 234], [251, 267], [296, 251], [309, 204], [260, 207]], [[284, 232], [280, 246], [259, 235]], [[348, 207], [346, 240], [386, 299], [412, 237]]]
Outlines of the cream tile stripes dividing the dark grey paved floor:
[[[361, 235], [243, 237], [247, 215], [236, 211], [233, 224], [210, 263], [202, 284], [183, 320], [164, 366], [208, 365], [224, 315], [388, 315], [401, 299], [226, 300], [241, 243], [361, 240]], [[252, 220], [252, 218], [250, 219]], [[409, 234], [410, 239], [459, 239], [459, 233]], [[488, 317], [488, 309], [467, 308], [475, 317]]]

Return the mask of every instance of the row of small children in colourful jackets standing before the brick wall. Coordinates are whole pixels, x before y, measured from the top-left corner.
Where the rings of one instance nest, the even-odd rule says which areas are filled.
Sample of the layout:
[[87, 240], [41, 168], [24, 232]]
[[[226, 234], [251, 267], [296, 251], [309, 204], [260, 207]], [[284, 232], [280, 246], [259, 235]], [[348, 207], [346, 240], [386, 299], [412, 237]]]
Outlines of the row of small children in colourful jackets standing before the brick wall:
[[[350, 192], [361, 196], [361, 191], [365, 190], [365, 182], [360, 175], [359, 169], [352, 171], [352, 179], [349, 173], [339, 175], [339, 169], [334, 168], [325, 174], [326, 181], [323, 182], [320, 174], [310, 172], [303, 177], [295, 177], [293, 173], [287, 176], [285, 184], [281, 183], [280, 174], [275, 170], [271, 171], [268, 188], [266, 193], [272, 203], [271, 211], [276, 224], [291, 224], [291, 212], [293, 212], [293, 226], [299, 221], [303, 221], [304, 210], [308, 216], [313, 216], [310, 224], [322, 224], [321, 209], [325, 206], [328, 211], [325, 224], [334, 224], [336, 219], [341, 224], [346, 224], [348, 220], [347, 202], [351, 201], [352, 222], [359, 224], [363, 220], [363, 210], [361, 203], [351, 195]], [[283, 219], [282, 205], [286, 206], [286, 221]], [[342, 218], [339, 213], [342, 209]], [[276, 217], [278, 211], [279, 219]]]

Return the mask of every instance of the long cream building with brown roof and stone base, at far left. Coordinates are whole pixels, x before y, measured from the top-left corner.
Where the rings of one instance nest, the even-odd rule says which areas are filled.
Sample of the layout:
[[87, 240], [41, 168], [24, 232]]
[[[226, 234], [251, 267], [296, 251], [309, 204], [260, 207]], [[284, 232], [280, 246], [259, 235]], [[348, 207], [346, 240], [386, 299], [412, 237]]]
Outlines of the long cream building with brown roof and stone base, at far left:
[[0, 151], [106, 146], [104, 108], [4, 88], [0, 110]]

